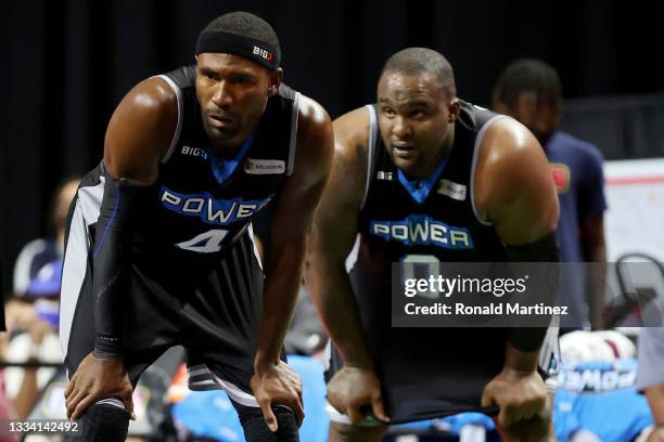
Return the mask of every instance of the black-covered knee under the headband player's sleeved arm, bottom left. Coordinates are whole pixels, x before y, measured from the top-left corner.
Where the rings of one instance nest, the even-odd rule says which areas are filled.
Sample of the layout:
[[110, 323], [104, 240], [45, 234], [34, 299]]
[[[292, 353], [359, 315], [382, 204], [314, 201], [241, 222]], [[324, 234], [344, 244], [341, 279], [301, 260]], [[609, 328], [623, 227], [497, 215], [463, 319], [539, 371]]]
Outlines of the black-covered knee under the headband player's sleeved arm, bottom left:
[[80, 432], [72, 442], [122, 442], [127, 438], [129, 414], [124, 407], [97, 403], [80, 417]]

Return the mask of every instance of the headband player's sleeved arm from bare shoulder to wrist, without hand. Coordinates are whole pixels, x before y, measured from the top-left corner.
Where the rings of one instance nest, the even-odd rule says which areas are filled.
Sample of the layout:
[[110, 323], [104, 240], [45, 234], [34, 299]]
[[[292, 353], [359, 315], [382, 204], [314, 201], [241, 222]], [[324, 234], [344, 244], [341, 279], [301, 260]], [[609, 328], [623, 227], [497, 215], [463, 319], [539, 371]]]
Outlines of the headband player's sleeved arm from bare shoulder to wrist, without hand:
[[105, 185], [95, 227], [95, 351], [118, 355], [123, 350], [125, 296], [124, 255], [131, 229], [132, 206], [141, 186], [154, 183], [161, 156], [177, 123], [175, 92], [158, 78], [139, 83], [115, 109], [104, 143]]

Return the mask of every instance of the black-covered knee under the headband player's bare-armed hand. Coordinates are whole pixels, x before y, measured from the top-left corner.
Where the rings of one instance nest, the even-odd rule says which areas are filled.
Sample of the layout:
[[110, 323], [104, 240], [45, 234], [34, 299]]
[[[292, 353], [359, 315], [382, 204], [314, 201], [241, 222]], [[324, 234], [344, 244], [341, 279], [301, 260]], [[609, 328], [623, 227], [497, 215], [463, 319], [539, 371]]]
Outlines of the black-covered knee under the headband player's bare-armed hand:
[[274, 406], [272, 412], [277, 417], [277, 425], [279, 427], [276, 432], [272, 432], [265, 422], [260, 408], [242, 407], [242, 410], [238, 410], [246, 440], [256, 442], [298, 442], [299, 435], [295, 413], [284, 406]]

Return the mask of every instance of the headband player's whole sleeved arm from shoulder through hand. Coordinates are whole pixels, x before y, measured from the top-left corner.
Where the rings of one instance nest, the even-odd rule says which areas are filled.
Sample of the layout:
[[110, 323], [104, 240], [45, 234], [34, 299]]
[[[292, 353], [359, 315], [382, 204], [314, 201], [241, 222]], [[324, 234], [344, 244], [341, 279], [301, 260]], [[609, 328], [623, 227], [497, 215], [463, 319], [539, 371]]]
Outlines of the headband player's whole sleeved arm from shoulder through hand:
[[177, 123], [177, 99], [158, 78], [133, 88], [115, 109], [104, 144], [104, 196], [94, 232], [94, 351], [79, 362], [65, 390], [67, 417], [77, 419], [100, 399], [119, 398], [133, 415], [124, 350], [126, 252], [132, 210], [157, 177]]

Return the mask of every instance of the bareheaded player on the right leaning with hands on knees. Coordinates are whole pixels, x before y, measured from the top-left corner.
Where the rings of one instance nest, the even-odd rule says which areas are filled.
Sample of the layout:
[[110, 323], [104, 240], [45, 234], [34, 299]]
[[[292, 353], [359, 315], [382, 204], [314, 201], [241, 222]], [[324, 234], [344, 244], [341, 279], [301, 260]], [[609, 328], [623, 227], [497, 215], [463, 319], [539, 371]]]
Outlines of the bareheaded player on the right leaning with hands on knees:
[[[491, 404], [507, 440], [547, 440], [547, 389], [537, 372], [546, 329], [392, 328], [390, 310], [391, 265], [407, 257], [558, 261], [558, 199], [536, 138], [458, 99], [448, 61], [422, 48], [394, 54], [378, 103], [336, 119], [334, 133], [306, 269], [334, 341], [330, 440], [380, 441], [388, 418]], [[434, 223], [446, 232], [435, 240], [376, 227], [414, 232]], [[384, 422], [371, 425], [367, 405]]]

